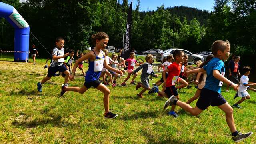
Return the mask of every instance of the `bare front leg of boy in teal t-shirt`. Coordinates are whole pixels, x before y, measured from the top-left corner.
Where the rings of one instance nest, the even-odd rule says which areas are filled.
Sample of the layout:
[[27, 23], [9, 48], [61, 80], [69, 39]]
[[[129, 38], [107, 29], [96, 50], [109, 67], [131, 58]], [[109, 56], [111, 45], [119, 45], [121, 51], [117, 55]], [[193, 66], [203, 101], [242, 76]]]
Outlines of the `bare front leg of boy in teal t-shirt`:
[[226, 102], [225, 104], [222, 104], [218, 106], [223, 112], [226, 114], [226, 122], [228, 124], [228, 127], [231, 132], [236, 132], [236, 126], [234, 122], [234, 117], [233, 117], [233, 108]]

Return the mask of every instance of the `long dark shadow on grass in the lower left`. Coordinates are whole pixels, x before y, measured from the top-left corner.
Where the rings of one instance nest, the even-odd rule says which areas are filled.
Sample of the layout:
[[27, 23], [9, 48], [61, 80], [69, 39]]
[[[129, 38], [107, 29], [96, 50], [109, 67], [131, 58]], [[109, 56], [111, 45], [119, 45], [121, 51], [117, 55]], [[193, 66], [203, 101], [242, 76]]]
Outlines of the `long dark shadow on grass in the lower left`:
[[46, 125], [46, 124], [52, 124], [52, 126], [55, 127], [65, 127], [65, 126], [72, 126], [75, 127], [77, 124], [72, 124], [70, 122], [66, 122], [64, 120], [61, 120], [62, 116], [56, 115], [56, 116], [50, 116], [50, 118], [42, 118], [40, 120], [38, 119], [33, 119], [33, 120], [23, 120], [23, 121], [18, 121], [14, 120], [12, 122], [12, 125], [14, 126], [24, 126], [26, 128], [35, 128], [37, 126], [41, 125]]

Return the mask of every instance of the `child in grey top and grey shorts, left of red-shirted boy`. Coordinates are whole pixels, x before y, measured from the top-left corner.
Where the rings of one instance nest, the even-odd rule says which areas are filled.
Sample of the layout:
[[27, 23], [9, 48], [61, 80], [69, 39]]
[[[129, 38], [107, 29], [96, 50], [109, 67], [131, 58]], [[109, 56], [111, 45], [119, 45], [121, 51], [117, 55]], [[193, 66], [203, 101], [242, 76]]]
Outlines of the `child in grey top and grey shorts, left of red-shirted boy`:
[[149, 78], [148, 76], [154, 76], [154, 77], [158, 77], [157, 74], [154, 73], [153, 68], [152, 68], [152, 63], [154, 62], [154, 57], [152, 54], [148, 54], [145, 57], [146, 63], [142, 64], [140, 67], [136, 68], [136, 70], [134, 70], [132, 72], [132, 74], [135, 74], [136, 72], [138, 72], [140, 69], [142, 69], [142, 73], [140, 76], [140, 80], [141, 82], [138, 82], [136, 84], [136, 90], [138, 90], [138, 88], [143, 87], [144, 89], [137, 94], [138, 97], [143, 98], [142, 94], [144, 92], [146, 92], [146, 90], [150, 90], [150, 86], [149, 86]]

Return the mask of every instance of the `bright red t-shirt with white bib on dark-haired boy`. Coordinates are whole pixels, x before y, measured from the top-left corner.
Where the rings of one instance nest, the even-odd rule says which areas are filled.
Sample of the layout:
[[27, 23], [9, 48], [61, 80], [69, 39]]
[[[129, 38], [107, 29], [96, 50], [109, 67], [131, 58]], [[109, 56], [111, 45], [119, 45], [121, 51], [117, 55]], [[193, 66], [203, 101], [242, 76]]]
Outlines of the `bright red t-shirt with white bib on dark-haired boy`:
[[168, 74], [168, 78], [166, 79], [166, 86], [167, 87], [175, 86], [175, 83], [177, 82], [178, 77], [180, 75], [181, 66], [180, 64], [173, 62], [167, 68], [169, 70], [169, 74]]

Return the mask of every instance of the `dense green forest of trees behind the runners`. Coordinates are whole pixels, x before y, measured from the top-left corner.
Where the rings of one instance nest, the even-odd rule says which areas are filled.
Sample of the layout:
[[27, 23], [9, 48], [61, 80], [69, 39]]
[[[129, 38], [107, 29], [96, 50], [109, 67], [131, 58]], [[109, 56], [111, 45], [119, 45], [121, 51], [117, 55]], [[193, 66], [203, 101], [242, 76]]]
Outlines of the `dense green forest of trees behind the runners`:
[[[255, 54], [256, 1], [215, 0], [213, 11], [185, 6], [159, 6], [140, 11], [140, 0], [133, 6], [131, 47], [138, 52], [149, 48], [183, 48], [191, 52], [209, 51], [215, 40], [229, 40], [231, 52]], [[62, 36], [65, 48], [83, 50], [92, 46], [90, 36], [104, 31], [108, 45], [122, 48], [122, 35], [130, 3], [128, 0], [2, 0], [18, 10], [30, 31], [50, 51]], [[14, 30], [2, 18], [3, 50], [13, 49]], [[42, 55], [47, 52], [34, 36]], [[41, 49], [42, 48], [42, 49]]]

